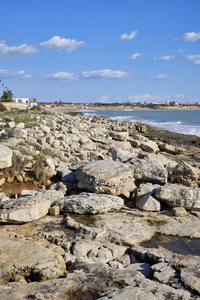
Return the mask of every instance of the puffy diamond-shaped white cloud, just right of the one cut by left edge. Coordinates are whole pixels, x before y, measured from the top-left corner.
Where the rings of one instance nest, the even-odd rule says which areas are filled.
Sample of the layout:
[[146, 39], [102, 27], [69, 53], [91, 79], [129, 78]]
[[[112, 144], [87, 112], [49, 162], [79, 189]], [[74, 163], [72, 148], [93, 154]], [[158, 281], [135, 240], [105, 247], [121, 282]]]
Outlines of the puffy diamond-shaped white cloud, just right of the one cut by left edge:
[[78, 47], [85, 45], [83, 41], [76, 41], [75, 39], [65, 39], [62, 36], [54, 36], [50, 40], [40, 43], [40, 47], [52, 51], [64, 50], [66, 53], [70, 53]]

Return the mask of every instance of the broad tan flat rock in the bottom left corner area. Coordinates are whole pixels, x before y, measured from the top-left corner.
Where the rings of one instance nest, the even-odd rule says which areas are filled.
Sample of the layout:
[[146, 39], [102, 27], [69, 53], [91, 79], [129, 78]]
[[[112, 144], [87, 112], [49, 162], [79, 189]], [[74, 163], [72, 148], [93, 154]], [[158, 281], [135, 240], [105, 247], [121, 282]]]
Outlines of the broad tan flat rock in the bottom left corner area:
[[[31, 276], [38, 280], [54, 279], [65, 271], [64, 259], [39, 244], [23, 239], [12, 240], [0, 235], [0, 285], [16, 275], [26, 280]], [[46, 274], [46, 275], [45, 275]], [[3, 299], [3, 298], [1, 298]]]

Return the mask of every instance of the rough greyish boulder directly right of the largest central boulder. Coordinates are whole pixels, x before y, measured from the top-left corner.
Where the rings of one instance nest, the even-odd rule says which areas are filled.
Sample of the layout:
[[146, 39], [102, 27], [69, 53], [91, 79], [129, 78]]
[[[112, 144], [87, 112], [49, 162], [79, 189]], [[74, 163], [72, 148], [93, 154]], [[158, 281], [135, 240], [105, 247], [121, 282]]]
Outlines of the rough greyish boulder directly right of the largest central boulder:
[[159, 161], [148, 158], [133, 158], [129, 161], [134, 178], [154, 183], [167, 183], [168, 172]]

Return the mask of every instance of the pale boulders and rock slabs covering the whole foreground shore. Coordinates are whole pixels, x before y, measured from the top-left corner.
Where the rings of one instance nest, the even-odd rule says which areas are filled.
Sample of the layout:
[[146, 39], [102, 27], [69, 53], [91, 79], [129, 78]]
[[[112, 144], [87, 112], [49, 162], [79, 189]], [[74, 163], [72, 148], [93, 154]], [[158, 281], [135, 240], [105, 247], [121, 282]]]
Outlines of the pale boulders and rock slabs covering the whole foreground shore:
[[[0, 121], [0, 188], [26, 181], [41, 152], [47, 186], [0, 190], [0, 298], [200, 299], [199, 146], [147, 138], [144, 124], [29, 115]], [[13, 155], [26, 168], [10, 180]]]

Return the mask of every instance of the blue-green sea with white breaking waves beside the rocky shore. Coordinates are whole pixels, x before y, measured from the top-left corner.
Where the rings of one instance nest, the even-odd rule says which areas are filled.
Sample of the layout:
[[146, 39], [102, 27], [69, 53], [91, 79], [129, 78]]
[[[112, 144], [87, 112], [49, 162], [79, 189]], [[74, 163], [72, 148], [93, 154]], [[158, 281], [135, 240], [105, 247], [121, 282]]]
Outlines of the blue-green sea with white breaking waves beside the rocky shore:
[[200, 137], [200, 110], [106, 109], [81, 110], [87, 115], [99, 115], [113, 120], [142, 122], [153, 128]]

